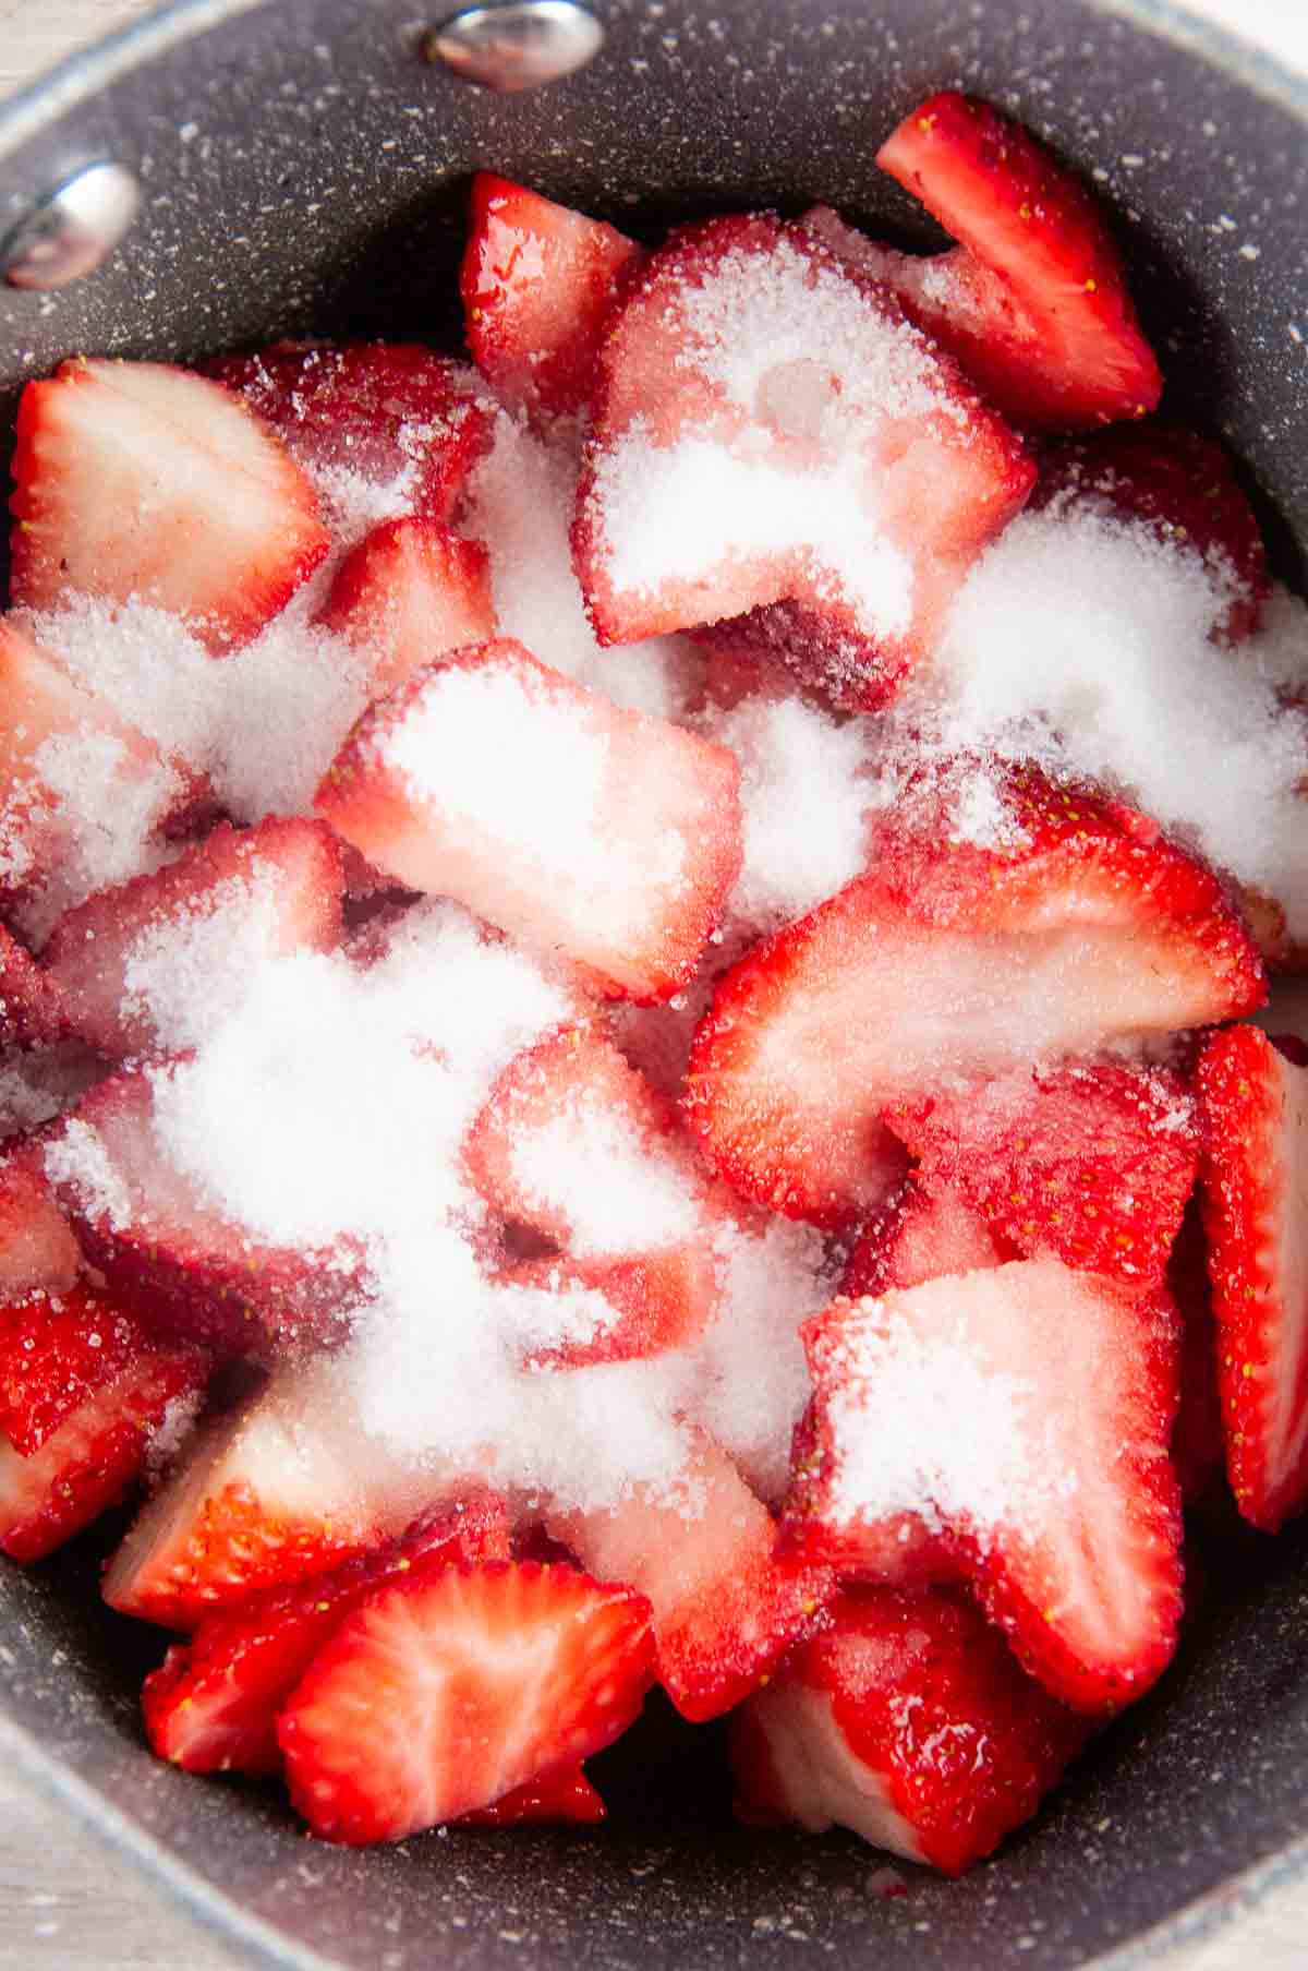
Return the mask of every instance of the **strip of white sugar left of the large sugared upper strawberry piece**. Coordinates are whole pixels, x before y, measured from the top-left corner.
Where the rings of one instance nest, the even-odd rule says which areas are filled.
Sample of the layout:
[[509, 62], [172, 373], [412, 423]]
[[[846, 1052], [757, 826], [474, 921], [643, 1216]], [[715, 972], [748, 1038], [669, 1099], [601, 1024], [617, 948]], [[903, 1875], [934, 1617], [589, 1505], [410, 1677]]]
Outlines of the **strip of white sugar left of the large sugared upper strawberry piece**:
[[542, 664], [632, 712], [676, 719], [691, 706], [703, 658], [684, 637], [650, 637], [601, 650], [573, 574], [569, 528], [577, 493], [577, 436], [557, 424], [548, 440], [498, 412], [494, 443], [469, 481], [463, 532], [490, 552], [500, 635]]

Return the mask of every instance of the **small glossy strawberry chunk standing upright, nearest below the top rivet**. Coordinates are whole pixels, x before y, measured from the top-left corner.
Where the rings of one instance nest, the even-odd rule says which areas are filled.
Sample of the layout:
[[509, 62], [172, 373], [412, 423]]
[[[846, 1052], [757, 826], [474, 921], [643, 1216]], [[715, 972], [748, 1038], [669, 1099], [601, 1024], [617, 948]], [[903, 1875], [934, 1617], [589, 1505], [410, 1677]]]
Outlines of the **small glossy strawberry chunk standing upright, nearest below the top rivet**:
[[613, 290], [640, 248], [494, 171], [473, 179], [459, 290], [473, 361], [506, 404], [581, 410]]

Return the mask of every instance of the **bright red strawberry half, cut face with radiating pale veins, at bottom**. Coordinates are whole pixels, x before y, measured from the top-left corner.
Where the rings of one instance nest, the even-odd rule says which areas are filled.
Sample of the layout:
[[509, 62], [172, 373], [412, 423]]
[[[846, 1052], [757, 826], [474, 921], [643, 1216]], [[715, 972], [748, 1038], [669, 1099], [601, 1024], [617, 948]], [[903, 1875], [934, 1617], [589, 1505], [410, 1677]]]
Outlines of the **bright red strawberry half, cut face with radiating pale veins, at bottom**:
[[394, 1583], [282, 1713], [292, 1801], [351, 1847], [437, 1827], [611, 1744], [650, 1660], [644, 1597], [569, 1567], [489, 1561]]

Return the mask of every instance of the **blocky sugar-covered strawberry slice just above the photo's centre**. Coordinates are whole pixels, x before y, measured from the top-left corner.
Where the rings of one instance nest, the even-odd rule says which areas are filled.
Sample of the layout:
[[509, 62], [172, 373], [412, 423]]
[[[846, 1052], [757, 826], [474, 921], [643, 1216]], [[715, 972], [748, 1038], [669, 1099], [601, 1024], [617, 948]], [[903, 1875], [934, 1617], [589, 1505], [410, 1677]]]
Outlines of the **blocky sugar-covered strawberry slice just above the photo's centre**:
[[510, 641], [429, 664], [364, 712], [315, 806], [386, 875], [613, 997], [687, 982], [741, 867], [733, 753]]

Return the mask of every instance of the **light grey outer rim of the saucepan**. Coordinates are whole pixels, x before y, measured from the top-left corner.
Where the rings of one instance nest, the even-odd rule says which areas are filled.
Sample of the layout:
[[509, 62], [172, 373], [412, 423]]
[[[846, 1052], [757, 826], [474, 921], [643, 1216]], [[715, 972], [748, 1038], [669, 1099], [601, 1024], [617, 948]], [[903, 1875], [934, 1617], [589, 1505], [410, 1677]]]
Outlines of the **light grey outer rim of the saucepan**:
[[[209, 28], [270, 4], [274, 0], [171, 0], [67, 57], [0, 104], [0, 160], [53, 118], [93, 101], [140, 63], [154, 61]], [[603, 16], [603, 0], [589, 4]], [[1294, 73], [1265, 49], [1200, 18], [1184, 0], [1079, 0], [1079, 4], [1198, 55], [1269, 104], [1298, 118], [1308, 136], [1308, 73]], [[297, 1943], [207, 1882], [79, 1772], [49, 1756], [32, 1733], [2, 1711], [0, 1758], [12, 1762], [26, 1780], [77, 1815], [106, 1845], [130, 1857], [144, 1876], [160, 1884], [197, 1922], [250, 1951], [252, 1961], [278, 1971], [339, 1971], [331, 1959]], [[1308, 1878], [1308, 1839], [1298, 1839], [1174, 1910], [1127, 1943], [1095, 1957], [1085, 1971], [1133, 1971], [1156, 1961], [1164, 1951], [1213, 1934], [1233, 1918], [1249, 1914], [1278, 1888], [1304, 1878]]]

